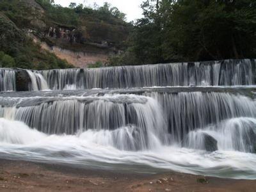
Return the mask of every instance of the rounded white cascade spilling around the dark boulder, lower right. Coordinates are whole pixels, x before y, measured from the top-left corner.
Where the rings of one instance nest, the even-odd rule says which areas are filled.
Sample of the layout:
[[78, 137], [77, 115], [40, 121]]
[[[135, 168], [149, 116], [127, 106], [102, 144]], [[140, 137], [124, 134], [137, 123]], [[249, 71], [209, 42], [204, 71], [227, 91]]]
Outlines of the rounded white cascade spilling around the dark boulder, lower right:
[[231, 118], [205, 129], [191, 131], [188, 134], [186, 146], [204, 150], [205, 134], [216, 140], [219, 150], [256, 153], [255, 118]]

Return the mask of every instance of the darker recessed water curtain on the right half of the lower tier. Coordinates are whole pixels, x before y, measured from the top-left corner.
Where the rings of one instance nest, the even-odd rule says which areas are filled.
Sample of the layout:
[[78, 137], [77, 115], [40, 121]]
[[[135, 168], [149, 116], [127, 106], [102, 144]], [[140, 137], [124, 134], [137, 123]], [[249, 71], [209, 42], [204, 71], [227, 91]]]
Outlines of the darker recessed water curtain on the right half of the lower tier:
[[255, 117], [256, 102], [230, 93], [149, 93], [163, 106], [164, 119], [176, 141], [182, 142], [189, 131], [202, 129], [227, 118]]

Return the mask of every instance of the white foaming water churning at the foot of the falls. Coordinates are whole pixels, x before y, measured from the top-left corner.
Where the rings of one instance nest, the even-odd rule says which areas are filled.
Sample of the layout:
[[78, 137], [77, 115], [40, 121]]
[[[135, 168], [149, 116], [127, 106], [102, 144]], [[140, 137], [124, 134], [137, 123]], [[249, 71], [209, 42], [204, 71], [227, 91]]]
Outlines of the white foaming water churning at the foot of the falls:
[[[113, 142], [122, 140], [124, 134], [131, 134], [131, 129], [122, 127], [116, 131], [85, 131], [73, 136], [57, 136], [35, 131], [21, 122], [0, 118], [0, 154], [30, 161], [77, 164], [90, 168], [115, 169], [120, 166], [120, 170], [137, 172], [174, 170], [256, 179], [256, 154], [223, 149], [206, 152], [177, 145], [167, 146], [162, 145], [157, 138], [153, 141], [156, 145], [150, 150], [128, 151], [122, 150], [122, 146], [115, 147]], [[130, 141], [134, 141], [132, 137]]]

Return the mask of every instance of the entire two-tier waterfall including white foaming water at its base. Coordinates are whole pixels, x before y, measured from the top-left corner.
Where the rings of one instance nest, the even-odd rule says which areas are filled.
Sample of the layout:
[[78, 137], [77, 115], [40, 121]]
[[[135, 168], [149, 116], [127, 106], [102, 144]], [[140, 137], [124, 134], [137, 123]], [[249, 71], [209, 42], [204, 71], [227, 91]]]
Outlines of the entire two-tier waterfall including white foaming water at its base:
[[[254, 65], [27, 70], [31, 90], [53, 90], [0, 93], [0, 156], [256, 179]], [[15, 72], [4, 82], [15, 83], [11, 77]], [[141, 88], [150, 86], [161, 88]]]

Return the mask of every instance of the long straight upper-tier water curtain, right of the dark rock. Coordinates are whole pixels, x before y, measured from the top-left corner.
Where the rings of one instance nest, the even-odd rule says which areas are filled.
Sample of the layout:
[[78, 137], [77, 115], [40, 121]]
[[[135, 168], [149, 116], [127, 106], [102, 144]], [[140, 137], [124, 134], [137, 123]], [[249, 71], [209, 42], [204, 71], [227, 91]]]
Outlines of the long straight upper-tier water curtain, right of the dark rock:
[[44, 70], [49, 88], [134, 88], [254, 84], [254, 60], [225, 60], [106, 68]]

